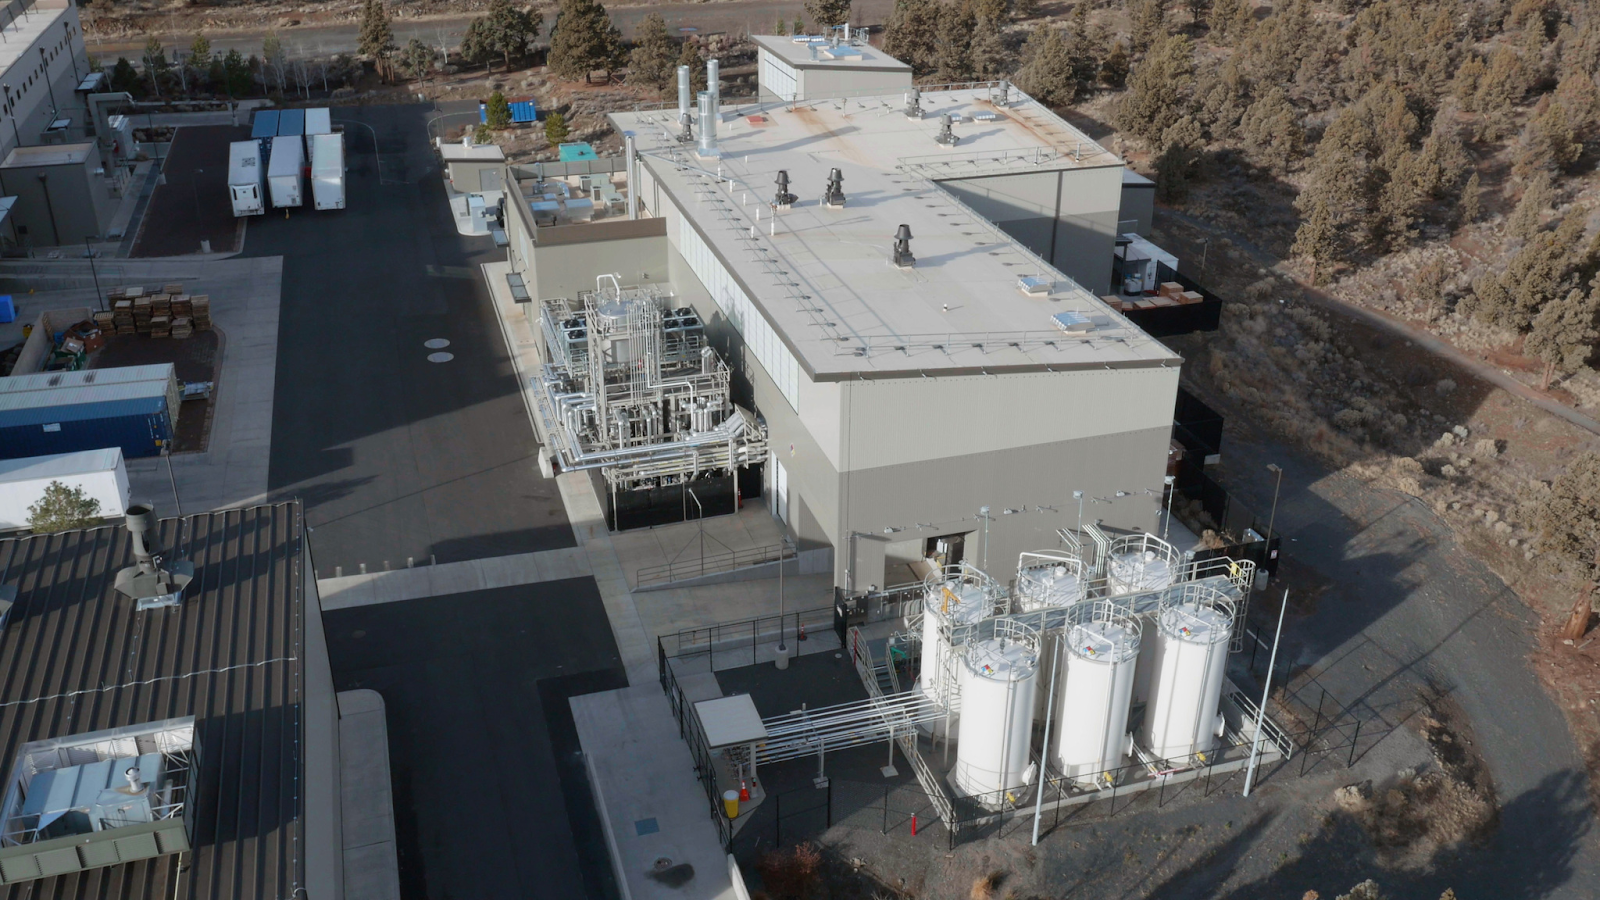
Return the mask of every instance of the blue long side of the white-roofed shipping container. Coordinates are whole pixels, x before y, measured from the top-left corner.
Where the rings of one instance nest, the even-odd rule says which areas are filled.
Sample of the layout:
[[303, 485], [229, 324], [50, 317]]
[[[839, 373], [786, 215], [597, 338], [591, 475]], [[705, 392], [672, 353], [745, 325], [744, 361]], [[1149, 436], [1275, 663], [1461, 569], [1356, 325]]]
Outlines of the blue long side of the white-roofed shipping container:
[[131, 460], [158, 455], [171, 437], [165, 397], [0, 412], [0, 460], [106, 447]]

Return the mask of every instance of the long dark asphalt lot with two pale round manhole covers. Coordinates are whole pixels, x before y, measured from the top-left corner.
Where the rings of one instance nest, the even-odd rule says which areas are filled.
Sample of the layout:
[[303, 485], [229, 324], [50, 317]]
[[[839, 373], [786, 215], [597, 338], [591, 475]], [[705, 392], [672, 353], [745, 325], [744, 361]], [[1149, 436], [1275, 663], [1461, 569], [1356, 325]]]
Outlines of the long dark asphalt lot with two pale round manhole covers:
[[478, 271], [504, 255], [456, 232], [432, 115], [334, 109], [346, 208], [245, 240], [283, 256], [269, 490], [306, 503], [323, 578], [574, 544]]

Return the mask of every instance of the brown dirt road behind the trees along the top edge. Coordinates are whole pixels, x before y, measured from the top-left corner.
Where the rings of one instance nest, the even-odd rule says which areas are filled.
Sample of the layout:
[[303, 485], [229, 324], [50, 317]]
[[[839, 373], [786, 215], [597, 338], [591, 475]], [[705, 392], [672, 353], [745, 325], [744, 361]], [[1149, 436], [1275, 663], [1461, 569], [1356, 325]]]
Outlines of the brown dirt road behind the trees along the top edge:
[[[856, 0], [853, 21], [856, 24], [882, 24], [893, 8], [893, 0]], [[610, 13], [611, 21], [614, 21], [622, 30], [622, 37], [632, 37], [638, 29], [638, 22], [650, 13], [661, 13], [661, 16], [667, 21], [667, 30], [672, 32], [693, 29], [693, 32], [699, 34], [742, 30], [762, 34], [771, 30], [779, 16], [792, 22], [795, 16], [805, 13], [805, 3], [797, 0], [656, 3], [645, 6], [611, 6]], [[467, 30], [467, 22], [475, 18], [477, 16], [437, 16], [424, 19], [395, 19], [395, 43], [405, 45], [414, 37], [435, 45], [440, 40], [445, 40], [451, 46], [456, 46], [461, 43], [462, 32]], [[544, 29], [541, 30], [546, 38], [549, 38], [550, 27], [554, 24], [555, 16], [550, 14], [544, 21]], [[206, 37], [211, 38], [213, 53], [227, 53], [229, 50], [238, 50], [246, 56], [251, 53], [261, 53], [262, 38], [267, 32], [275, 32], [290, 56], [331, 56], [334, 53], [355, 53], [355, 45], [360, 37], [360, 24], [339, 22], [331, 26], [296, 26], [288, 29], [253, 27], [245, 30], [205, 29], [205, 32]], [[166, 42], [168, 46], [187, 48], [195, 29], [182, 21], [174, 21], [173, 26], [163, 22], [160, 30], [152, 34]], [[149, 35], [131, 38], [122, 35], [88, 35], [85, 43], [88, 45], [88, 51], [96, 56], [110, 59], [115, 59], [117, 56], [128, 56], [131, 59], [144, 50], [147, 37]]]

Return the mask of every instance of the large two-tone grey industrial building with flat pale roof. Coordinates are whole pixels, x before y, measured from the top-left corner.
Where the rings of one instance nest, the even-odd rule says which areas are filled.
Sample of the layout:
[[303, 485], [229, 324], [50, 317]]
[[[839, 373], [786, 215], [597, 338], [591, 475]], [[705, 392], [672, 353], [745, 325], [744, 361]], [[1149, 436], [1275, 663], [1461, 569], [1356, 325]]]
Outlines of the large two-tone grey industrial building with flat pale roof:
[[[746, 448], [763, 460], [730, 447], [717, 464], [758, 476], [798, 544], [832, 551], [842, 589], [907, 581], [904, 564], [930, 557], [1003, 578], [1080, 509], [1154, 528], [1182, 360], [1098, 296], [1117, 235], [1147, 223], [1147, 183], [1005, 82], [917, 91], [885, 62], [898, 86], [826, 96], [859, 83], [824, 80], [827, 66], [880, 53], [757, 43], [755, 104], [709, 91], [691, 109], [680, 90], [677, 107], [611, 115], [632, 152], [626, 213], [539, 223], [546, 178], [507, 170], [530, 317], [603, 304], [602, 275], [611, 299], [632, 287], [693, 314], [707, 372], [733, 376], [725, 415], [762, 428]], [[562, 362], [542, 349], [547, 368]], [[541, 423], [547, 445], [562, 431]], [[704, 432], [650, 453], [682, 460]]]

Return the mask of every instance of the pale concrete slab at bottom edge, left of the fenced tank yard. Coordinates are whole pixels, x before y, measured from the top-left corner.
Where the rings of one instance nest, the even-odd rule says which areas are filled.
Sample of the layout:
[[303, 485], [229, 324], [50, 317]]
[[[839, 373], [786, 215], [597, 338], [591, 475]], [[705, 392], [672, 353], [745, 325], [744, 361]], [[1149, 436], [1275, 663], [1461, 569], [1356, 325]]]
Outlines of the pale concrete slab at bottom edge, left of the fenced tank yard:
[[[678, 738], [661, 685], [571, 698], [589, 785], [600, 810], [611, 865], [626, 900], [722, 900], [738, 897], [728, 857], [694, 778], [694, 759]], [[682, 886], [653, 878], [658, 860], [690, 874]]]

